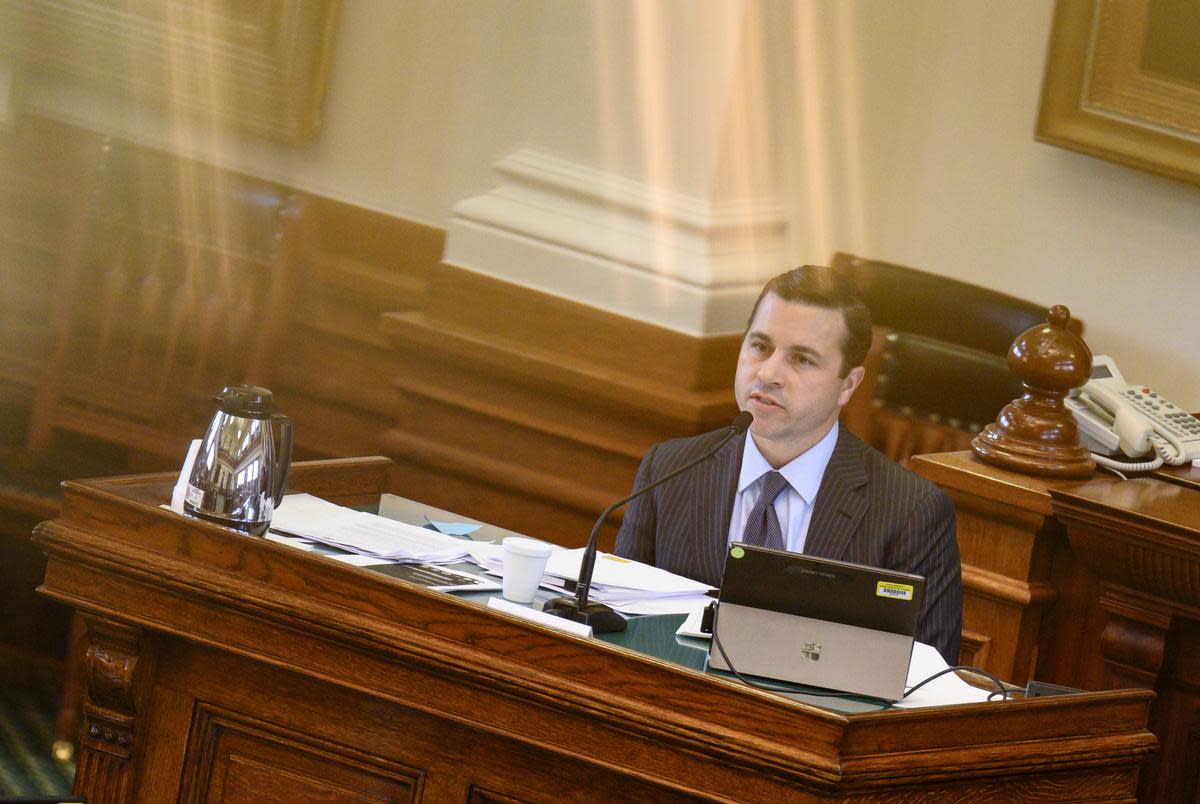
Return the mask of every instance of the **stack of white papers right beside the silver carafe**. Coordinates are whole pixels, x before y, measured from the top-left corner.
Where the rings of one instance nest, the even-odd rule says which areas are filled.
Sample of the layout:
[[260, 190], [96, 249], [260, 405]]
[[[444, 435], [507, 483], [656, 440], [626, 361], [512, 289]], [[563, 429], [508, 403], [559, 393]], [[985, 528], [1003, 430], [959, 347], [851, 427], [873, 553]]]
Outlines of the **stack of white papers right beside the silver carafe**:
[[288, 494], [271, 516], [271, 530], [342, 550], [406, 563], [456, 562], [469, 542], [366, 511], [335, 505], [312, 494]]

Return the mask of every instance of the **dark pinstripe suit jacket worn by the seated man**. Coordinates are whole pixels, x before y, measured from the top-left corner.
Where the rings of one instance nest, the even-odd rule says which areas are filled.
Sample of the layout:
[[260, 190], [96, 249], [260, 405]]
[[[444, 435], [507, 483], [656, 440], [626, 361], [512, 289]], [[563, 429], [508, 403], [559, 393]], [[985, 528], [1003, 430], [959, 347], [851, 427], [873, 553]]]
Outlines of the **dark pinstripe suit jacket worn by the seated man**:
[[[655, 444], [635, 488], [691, 461], [725, 430]], [[745, 436], [630, 504], [617, 553], [720, 586]], [[804, 552], [925, 576], [917, 640], [958, 664], [962, 578], [954, 504], [941, 488], [841, 427], [821, 479]]]

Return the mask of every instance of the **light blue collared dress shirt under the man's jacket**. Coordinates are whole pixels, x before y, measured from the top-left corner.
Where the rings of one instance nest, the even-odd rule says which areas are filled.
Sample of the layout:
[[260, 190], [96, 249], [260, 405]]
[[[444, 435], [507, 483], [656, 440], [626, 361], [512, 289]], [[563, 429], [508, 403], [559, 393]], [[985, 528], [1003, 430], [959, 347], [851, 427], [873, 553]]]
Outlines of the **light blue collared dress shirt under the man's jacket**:
[[[779, 469], [787, 479], [788, 487], [775, 498], [775, 515], [784, 529], [784, 546], [793, 553], [804, 552], [804, 541], [809, 535], [809, 520], [812, 518], [812, 503], [821, 488], [833, 448], [838, 443], [838, 422], [824, 438], [814, 444], [806, 452], [793, 458]], [[767, 458], [758, 451], [754, 434], [746, 437], [742, 451], [742, 474], [738, 475], [738, 493], [733, 498], [733, 516], [730, 517], [730, 544], [742, 541], [746, 529], [746, 517], [762, 494], [760, 478], [773, 470]]]

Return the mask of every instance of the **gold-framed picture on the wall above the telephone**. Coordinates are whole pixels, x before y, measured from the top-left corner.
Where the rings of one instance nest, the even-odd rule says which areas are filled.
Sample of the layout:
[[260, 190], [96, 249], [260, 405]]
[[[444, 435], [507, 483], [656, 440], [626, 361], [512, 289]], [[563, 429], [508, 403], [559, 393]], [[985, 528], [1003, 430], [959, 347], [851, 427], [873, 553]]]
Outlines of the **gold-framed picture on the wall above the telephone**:
[[1200, 5], [1057, 0], [1037, 138], [1200, 184]]

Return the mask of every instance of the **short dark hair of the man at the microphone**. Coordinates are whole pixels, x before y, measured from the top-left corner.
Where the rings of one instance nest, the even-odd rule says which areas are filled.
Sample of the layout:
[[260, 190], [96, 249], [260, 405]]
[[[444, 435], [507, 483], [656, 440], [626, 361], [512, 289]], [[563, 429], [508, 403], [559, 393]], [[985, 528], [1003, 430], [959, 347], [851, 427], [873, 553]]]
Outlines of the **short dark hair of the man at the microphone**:
[[841, 371], [838, 373], [845, 377], [851, 368], [863, 365], [871, 348], [871, 312], [858, 298], [858, 290], [847, 275], [823, 265], [800, 265], [784, 271], [763, 286], [750, 311], [748, 332], [758, 305], [768, 293], [774, 293], [784, 301], [841, 312], [841, 318], [846, 322], [846, 337], [841, 342]]

